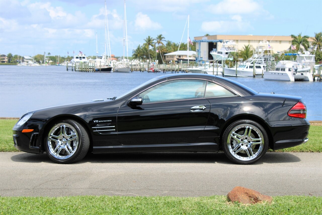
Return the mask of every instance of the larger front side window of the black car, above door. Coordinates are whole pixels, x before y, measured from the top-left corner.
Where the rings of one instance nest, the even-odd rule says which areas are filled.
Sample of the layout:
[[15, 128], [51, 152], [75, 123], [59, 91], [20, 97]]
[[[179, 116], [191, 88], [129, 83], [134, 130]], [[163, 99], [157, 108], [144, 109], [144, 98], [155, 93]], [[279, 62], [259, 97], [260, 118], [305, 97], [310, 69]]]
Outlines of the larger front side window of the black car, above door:
[[138, 96], [143, 98], [143, 104], [203, 98], [205, 87], [203, 80], [180, 79], [160, 83]]

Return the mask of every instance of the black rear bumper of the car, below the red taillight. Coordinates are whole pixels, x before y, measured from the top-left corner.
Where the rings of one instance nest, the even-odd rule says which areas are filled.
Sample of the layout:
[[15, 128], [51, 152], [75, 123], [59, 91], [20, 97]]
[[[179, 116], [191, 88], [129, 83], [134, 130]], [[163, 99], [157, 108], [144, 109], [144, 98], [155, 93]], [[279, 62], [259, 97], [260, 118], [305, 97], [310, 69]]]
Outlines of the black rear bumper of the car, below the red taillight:
[[268, 122], [271, 127], [273, 150], [289, 148], [308, 142], [308, 130], [310, 123], [307, 119], [296, 119], [285, 121]]

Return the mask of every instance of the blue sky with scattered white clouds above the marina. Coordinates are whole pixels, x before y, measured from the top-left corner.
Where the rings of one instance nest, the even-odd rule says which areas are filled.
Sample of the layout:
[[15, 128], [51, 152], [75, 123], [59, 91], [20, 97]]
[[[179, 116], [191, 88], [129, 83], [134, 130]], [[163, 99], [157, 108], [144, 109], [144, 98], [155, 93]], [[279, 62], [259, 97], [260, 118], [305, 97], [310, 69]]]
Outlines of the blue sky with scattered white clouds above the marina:
[[[124, 1], [107, 0], [111, 52], [123, 55]], [[127, 0], [128, 52], [150, 35], [179, 43], [189, 34], [314, 36], [322, 31], [322, 1]], [[0, 0], [0, 53], [104, 53], [104, 0]], [[184, 35], [184, 42], [186, 36]]]

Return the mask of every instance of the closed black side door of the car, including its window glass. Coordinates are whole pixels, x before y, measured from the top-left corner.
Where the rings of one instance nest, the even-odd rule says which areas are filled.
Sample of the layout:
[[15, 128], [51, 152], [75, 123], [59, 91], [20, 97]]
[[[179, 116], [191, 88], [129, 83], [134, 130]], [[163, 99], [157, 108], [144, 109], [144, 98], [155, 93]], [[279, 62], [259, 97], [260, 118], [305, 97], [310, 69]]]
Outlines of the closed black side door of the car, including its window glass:
[[197, 141], [207, 123], [210, 103], [206, 81], [167, 80], [140, 92], [143, 103], [118, 111], [118, 139], [123, 145], [189, 143]]

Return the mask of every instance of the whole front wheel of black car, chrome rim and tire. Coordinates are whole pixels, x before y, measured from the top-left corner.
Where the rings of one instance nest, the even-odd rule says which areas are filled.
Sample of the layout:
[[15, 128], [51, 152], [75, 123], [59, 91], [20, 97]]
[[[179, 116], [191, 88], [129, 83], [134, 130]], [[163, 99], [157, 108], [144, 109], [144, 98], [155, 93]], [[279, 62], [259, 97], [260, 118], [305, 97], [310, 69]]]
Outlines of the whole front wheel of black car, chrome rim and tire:
[[56, 163], [74, 163], [85, 157], [90, 138], [84, 127], [74, 120], [54, 123], [45, 134], [45, 150]]

